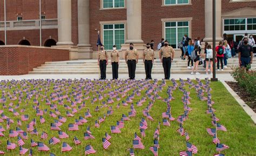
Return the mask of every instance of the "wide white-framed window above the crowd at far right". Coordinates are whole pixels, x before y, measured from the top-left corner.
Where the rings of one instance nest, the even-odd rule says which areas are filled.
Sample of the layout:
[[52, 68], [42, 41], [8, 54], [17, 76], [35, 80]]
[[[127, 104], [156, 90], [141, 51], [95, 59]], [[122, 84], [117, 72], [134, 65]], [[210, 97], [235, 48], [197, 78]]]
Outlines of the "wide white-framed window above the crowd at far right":
[[224, 31], [256, 30], [256, 18], [224, 19]]

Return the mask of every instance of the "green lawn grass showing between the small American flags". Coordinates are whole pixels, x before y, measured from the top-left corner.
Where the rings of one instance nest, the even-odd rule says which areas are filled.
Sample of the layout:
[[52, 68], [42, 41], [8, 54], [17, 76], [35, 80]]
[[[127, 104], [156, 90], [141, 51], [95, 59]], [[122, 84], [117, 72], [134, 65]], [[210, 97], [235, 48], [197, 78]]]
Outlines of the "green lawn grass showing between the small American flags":
[[[77, 80], [78, 82], [78, 80]], [[58, 82], [56, 82], [58, 83]], [[4, 83], [0, 82], [0, 89], [1, 84]], [[8, 82], [10, 84], [10, 82]], [[69, 86], [71, 91], [71, 87], [74, 86], [75, 83], [73, 83], [71, 86]], [[123, 86], [126, 86], [127, 84], [123, 84]], [[167, 85], [163, 88], [163, 91], [159, 92], [159, 96], [162, 98], [167, 98], [166, 89], [168, 85], [172, 85], [171, 82], [167, 82]], [[48, 91], [48, 95], [53, 92], [52, 90], [53, 84], [51, 84], [50, 90]], [[96, 89], [102, 88], [104, 85], [95, 85], [94, 87]], [[218, 131], [218, 138], [220, 139], [220, 142], [230, 146], [227, 150], [224, 150], [221, 153], [224, 153], [226, 155], [256, 155], [256, 126], [253, 124], [253, 121], [251, 118], [242, 110], [242, 108], [238, 105], [237, 101], [231, 96], [230, 93], [225, 89], [223, 84], [220, 82], [211, 82], [212, 87], [212, 100], [215, 102], [213, 105], [213, 108], [216, 110], [215, 114], [220, 119], [218, 123], [221, 125], [224, 125], [227, 128], [227, 132], [224, 131]], [[21, 84], [15, 84], [11, 87], [11, 89], [4, 89], [5, 92], [12, 92], [16, 87], [19, 89], [21, 88]], [[33, 89], [34, 86], [32, 86]], [[38, 86], [35, 86], [35, 89], [37, 89]], [[113, 90], [113, 88], [117, 88], [116, 85], [112, 84], [112, 88], [106, 88], [105, 93]], [[186, 90], [188, 89], [188, 85], [185, 86]], [[3, 88], [0, 90], [0, 96], [2, 96]], [[83, 91], [85, 92], [85, 91]], [[215, 151], [215, 145], [212, 143], [212, 137], [206, 132], [206, 128], [211, 127], [214, 128], [211, 124], [211, 116], [210, 114], [206, 114], [205, 111], [207, 110], [206, 101], [201, 101], [197, 98], [196, 91], [194, 89], [190, 90], [191, 94], [190, 97], [192, 98], [190, 107], [193, 109], [190, 114], [188, 115], [188, 120], [185, 121], [183, 127], [190, 135], [190, 143], [197, 146], [198, 153], [195, 155], [213, 155], [214, 153], [217, 153]], [[129, 93], [132, 93], [132, 89], [129, 91]], [[39, 123], [39, 117], [35, 116], [35, 110], [32, 109], [32, 100], [29, 101], [29, 106], [25, 107], [25, 104], [20, 104], [20, 108], [18, 108], [18, 112], [21, 110], [21, 108], [25, 107], [26, 111], [24, 113], [20, 114], [29, 114], [29, 121], [23, 121], [22, 122], [22, 130], [26, 130], [26, 124], [29, 124], [29, 122], [33, 119], [37, 119], [37, 125], [36, 128], [39, 132], [38, 137], [36, 135], [30, 135], [29, 139], [24, 140], [25, 145], [24, 148], [30, 148], [30, 138], [32, 137], [33, 140], [42, 141], [45, 145], [50, 147], [50, 152], [54, 153], [56, 155], [84, 155], [84, 147], [88, 144], [90, 144], [96, 151], [96, 155], [129, 155], [129, 152], [126, 151], [127, 148], [132, 147], [132, 140], [134, 138], [134, 132], [137, 132], [137, 134], [140, 136], [139, 133], [139, 121], [143, 117], [142, 110], [146, 107], [146, 105], [149, 103], [149, 99], [147, 99], [146, 103], [143, 104], [141, 107], [134, 106], [137, 111], [137, 116], [131, 118], [131, 121], [125, 121], [125, 126], [123, 129], [121, 129], [122, 133], [120, 134], [111, 134], [110, 133], [110, 126], [116, 125], [116, 121], [120, 120], [122, 117], [122, 114], [128, 114], [130, 111], [130, 106], [120, 106], [119, 109], [116, 108], [116, 105], [118, 102], [114, 99], [114, 103], [111, 104], [113, 106], [113, 115], [110, 117], [106, 117], [106, 120], [100, 124], [100, 128], [95, 128], [94, 123], [95, 120], [100, 116], [103, 117], [104, 112], [106, 113], [107, 108], [101, 108], [99, 112], [95, 112], [95, 107], [97, 106], [98, 102], [95, 104], [91, 104], [92, 95], [95, 94], [95, 92], [90, 92], [91, 98], [89, 100], [86, 100], [86, 107], [83, 108], [83, 110], [78, 111], [78, 113], [75, 114], [74, 117], [66, 117], [65, 116], [65, 109], [63, 106], [58, 106], [58, 110], [61, 112], [61, 115], [68, 118], [66, 123], [64, 123], [60, 128], [62, 131], [68, 133], [69, 138], [66, 139], [60, 139], [62, 142], [65, 141], [68, 143], [71, 147], [73, 147], [72, 151], [70, 152], [64, 152], [61, 153], [61, 146], [62, 144], [57, 145], [49, 145], [48, 141], [51, 137], [57, 137], [58, 138], [58, 132], [57, 131], [51, 131], [50, 130], [50, 123], [53, 123], [53, 119], [49, 117], [49, 110], [50, 107], [44, 105], [43, 103], [40, 105], [40, 109], [48, 108], [48, 113], [44, 115], [44, 118], [46, 120], [46, 123], [40, 124]], [[145, 95], [145, 90], [142, 91], [142, 96]], [[133, 99], [133, 102], [138, 101], [141, 99], [141, 97], [135, 96]], [[174, 118], [177, 118], [179, 115], [183, 114], [183, 103], [181, 102], [181, 97], [183, 96], [183, 93], [181, 91], [175, 90], [173, 91], [172, 96], [175, 98], [171, 101], [171, 113]], [[32, 98], [33, 99], [33, 98]], [[123, 98], [125, 99], [125, 98]], [[40, 98], [39, 98], [40, 100]], [[106, 100], [106, 98], [104, 98]], [[103, 101], [103, 100], [102, 100]], [[121, 100], [122, 101], [122, 100]], [[6, 104], [9, 104], [10, 100], [8, 99]], [[18, 101], [13, 101], [14, 105], [18, 103]], [[44, 101], [45, 103], [45, 101]], [[69, 104], [70, 105], [70, 104]], [[68, 131], [68, 124], [75, 123], [75, 119], [78, 119], [79, 116], [84, 117], [84, 113], [86, 112], [86, 108], [90, 108], [92, 118], [87, 118], [88, 122], [82, 126], [79, 126], [79, 131]], [[0, 110], [3, 110], [2, 105], [0, 106]], [[154, 103], [150, 114], [153, 117], [154, 121], [147, 120], [148, 123], [148, 129], [145, 130], [146, 137], [142, 139], [142, 143], [145, 146], [144, 150], [135, 149], [135, 155], [153, 155], [152, 152], [149, 150], [151, 146], [153, 146], [153, 133], [155, 128], [158, 125], [158, 121], [161, 121], [161, 113], [165, 112], [166, 110], [166, 103], [164, 103], [161, 100], [156, 100], [156, 103]], [[4, 114], [11, 119], [14, 119], [15, 124], [11, 124], [11, 129], [16, 130], [16, 121], [20, 117], [14, 117], [11, 112], [8, 112], [8, 108], [4, 109]], [[159, 155], [179, 155], [180, 151], [186, 150], [186, 141], [185, 136], [181, 137], [179, 133], [176, 132], [176, 130], [179, 127], [178, 122], [170, 121], [171, 126], [160, 126], [160, 139], [159, 139]], [[6, 123], [1, 123], [1, 125], [6, 128]], [[86, 132], [86, 127], [90, 125], [91, 126], [91, 132], [92, 135], [96, 137], [94, 140], [84, 140], [84, 132]], [[48, 139], [43, 140], [40, 138], [40, 135], [42, 131], [45, 131], [48, 133]], [[110, 139], [111, 145], [108, 150], [103, 149], [102, 145], [102, 138], [104, 137], [105, 132], [109, 133], [112, 138]], [[9, 136], [9, 131], [4, 132], [5, 136]], [[78, 145], [77, 147], [73, 143], [73, 137], [76, 136], [80, 141], [82, 141], [82, 144]], [[2, 141], [2, 144], [0, 144], [0, 150], [5, 152], [5, 155], [18, 155], [18, 148], [15, 150], [12, 150], [10, 152], [6, 151], [6, 137], [1, 137], [0, 140]], [[9, 139], [12, 143], [17, 144], [17, 138], [10, 138]], [[50, 152], [38, 152], [37, 147], [32, 147], [33, 149], [33, 155], [48, 155]], [[28, 153], [26, 153], [28, 155]]]

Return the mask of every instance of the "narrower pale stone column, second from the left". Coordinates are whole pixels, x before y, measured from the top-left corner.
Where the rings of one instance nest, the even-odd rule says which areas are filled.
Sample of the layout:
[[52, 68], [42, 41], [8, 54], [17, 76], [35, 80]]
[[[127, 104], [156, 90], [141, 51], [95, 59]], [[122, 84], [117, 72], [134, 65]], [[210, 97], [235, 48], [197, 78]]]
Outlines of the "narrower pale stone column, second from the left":
[[78, 46], [90, 44], [90, 8], [89, 0], [78, 0]]

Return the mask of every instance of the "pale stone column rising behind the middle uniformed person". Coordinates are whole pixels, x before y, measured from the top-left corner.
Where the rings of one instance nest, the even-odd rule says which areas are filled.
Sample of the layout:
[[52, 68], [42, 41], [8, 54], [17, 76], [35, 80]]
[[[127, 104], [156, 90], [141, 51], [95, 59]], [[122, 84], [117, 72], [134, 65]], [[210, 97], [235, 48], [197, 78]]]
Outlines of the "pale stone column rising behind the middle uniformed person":
[[128, 0], [127, 40], [125, 43], [143, 43], [142, 40], [142, 0]]

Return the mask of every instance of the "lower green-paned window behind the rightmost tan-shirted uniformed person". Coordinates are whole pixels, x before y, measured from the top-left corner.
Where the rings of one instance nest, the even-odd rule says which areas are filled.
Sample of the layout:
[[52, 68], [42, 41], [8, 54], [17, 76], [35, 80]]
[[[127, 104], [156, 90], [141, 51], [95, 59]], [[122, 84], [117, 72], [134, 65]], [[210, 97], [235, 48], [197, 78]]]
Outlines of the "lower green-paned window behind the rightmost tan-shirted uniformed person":
[[165, 39], [172, 48], [178, 48], [178, 43], [184, 35], [189, 35], [188, 21], [165, 22]]

